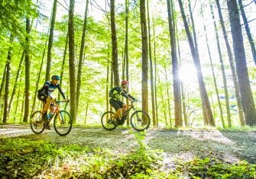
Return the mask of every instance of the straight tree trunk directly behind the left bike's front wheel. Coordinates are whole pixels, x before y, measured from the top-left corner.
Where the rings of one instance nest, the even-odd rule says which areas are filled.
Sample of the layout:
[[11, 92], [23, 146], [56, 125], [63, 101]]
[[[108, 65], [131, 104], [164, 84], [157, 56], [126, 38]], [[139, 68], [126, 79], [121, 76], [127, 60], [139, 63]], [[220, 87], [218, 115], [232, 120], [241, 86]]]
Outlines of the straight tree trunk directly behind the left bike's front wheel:
[[74, 0], [70, 0], [69, 11], [69, 50], [70, 50], [70, 116], [76, 123], [76, 65], [75, 65], [75, 30], [74, 30]]

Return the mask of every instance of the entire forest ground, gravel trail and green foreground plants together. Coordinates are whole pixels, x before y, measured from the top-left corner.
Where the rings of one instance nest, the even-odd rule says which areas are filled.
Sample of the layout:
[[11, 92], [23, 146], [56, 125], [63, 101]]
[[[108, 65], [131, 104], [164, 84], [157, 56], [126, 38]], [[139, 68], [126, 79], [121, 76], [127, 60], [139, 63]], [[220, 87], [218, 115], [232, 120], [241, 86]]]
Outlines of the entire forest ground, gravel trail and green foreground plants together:
[[[2, 145], [0, 176], [2, 178], [255, 177], [255, 130], [148, 129], [145, 136], [132, 131], [124, 128], [107, 131], [100, 127], [76, 126], [68, 136], [60, 137], [53, 130], [36, 135], [28, 125], [0, 126]], [[137, 135], [144, 137], [140, 138]], [[143, 150], [140, 150], [141, 148]], [[133, 153], [136, 155], [132, 156]], [[122, 161], [121, 158], [125, 155], [128, 155], [128, 158]], [[140, 159], [138, 155], [148, 155], [144, 157], [150, 157], [147, 158], [149, 163], [147, 159]], [[129, 160], [132, 160], [131, 164], [125, 163]], [[181, 166], [186, 168], [182, 169]], [[212, 173], [207, 174], [206, 171], [210, 170]]]

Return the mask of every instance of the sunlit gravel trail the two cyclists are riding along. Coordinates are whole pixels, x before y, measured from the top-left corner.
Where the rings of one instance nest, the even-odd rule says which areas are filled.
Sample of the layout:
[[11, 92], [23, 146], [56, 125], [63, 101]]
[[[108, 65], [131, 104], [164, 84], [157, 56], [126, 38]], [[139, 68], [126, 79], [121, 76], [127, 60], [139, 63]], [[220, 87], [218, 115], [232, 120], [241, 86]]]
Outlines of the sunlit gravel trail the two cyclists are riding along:
[[[0, 138], [37, 138], [57, 145], [76, 144], [128, 152], [137, 145], [130, 131], [132, 129], [117, 128], [106, 131], [102, 128], [74, 127], [68, 136], [60, 137], [53, 127], [50, 131], [45, 130], [44, 133], [36, 135], [32, 133], [29, 125], [5, 125], [0, 126]], [[227, 162], [246, 160], [256, 164], [256, 131], [148, 129], [145, 142], [151, 149], [162, 149], [168, 156], [183, 160], [198, 156], [219, 158]]]

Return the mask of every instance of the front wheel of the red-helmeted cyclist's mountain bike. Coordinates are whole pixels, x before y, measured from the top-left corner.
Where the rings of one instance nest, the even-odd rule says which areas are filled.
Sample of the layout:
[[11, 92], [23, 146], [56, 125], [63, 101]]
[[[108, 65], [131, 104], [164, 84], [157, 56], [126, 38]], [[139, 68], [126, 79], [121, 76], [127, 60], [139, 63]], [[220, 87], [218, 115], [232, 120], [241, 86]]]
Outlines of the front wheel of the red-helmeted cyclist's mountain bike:
[[137, 131], [143, 131], [151, 125], [149, 115], [143, 110], [136, 110], [131, 114], [131, 126]]

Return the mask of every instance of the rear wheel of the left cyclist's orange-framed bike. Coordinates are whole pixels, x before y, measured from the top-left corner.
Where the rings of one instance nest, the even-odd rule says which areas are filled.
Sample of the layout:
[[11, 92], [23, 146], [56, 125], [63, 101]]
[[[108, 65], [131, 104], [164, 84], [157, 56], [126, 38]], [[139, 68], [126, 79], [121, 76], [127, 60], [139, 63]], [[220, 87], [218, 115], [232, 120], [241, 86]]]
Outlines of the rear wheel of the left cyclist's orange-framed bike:
[[35, 111], [31, 115], [31, 129], [34, 133], [40, 134], [44, 131], [44, 120], [42, 119], [42, 113], [40, 110]]

